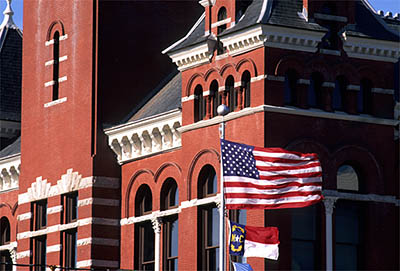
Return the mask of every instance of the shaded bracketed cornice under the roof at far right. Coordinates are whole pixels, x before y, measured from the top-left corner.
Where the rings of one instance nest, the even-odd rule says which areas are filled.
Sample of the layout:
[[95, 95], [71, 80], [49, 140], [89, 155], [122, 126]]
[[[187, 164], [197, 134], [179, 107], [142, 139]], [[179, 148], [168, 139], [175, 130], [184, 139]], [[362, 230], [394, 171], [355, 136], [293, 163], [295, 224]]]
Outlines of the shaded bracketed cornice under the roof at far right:
[[343, 49], [349, 57], [396, 63], [400, 57], [398, 42], [360, 38], [342, 34]]

